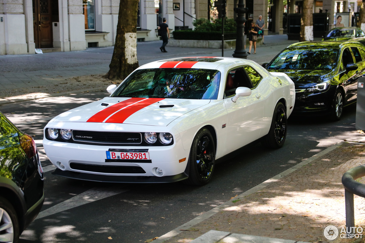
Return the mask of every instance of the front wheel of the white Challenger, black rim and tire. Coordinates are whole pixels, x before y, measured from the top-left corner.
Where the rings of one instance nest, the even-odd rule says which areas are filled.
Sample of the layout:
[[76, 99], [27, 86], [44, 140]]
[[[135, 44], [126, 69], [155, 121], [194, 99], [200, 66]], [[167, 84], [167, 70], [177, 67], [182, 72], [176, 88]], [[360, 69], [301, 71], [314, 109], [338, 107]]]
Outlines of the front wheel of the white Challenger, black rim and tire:
[[188, 185], [201, 186], [207, 184], [215, 167], [215, 144], [213, 136], [207, 128], [202, 128], [196, 135], [190, 150]]

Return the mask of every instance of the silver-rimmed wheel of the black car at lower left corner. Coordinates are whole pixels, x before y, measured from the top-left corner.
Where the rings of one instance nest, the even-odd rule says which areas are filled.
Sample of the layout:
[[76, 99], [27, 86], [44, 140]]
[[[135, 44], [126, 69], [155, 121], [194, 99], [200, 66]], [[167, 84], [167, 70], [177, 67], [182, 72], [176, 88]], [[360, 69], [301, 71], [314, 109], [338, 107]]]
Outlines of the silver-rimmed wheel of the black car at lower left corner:
[[16, 211], [11, 203], [0, 197], [0, 242], [19, 241], [19, 222]]

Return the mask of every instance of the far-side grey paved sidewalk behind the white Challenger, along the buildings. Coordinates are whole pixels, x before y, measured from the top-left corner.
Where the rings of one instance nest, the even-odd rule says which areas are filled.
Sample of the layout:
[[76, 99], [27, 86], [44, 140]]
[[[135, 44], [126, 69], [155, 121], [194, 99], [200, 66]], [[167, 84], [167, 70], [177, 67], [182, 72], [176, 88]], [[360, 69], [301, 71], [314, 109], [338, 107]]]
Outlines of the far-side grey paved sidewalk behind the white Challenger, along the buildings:
[[[267, 44], [258, 46], [257, 54], [248, 55], [247, 58], [260, 64], [268, 62], [280, 50], [295, 42], [288, 40], [287, 35], [265, 36]], [[166, 46], [168, 53], [161, 53], [161, 43], [138, 42], [139, 65], [173, 57], [222, 55], [221, 49], [169, 46]], [[75, 90], [105, 90], [112, 82], [98, 74], [108, 72], [113, 50], [114, 47], [111, 46], [88, 48], [85, 51], [0, 55], [0, 104]], [[246, 50], [248, 51], [248, 46]], [[234, 49], [225, 49], [224, 56], [232, 57], [233, 52]]]

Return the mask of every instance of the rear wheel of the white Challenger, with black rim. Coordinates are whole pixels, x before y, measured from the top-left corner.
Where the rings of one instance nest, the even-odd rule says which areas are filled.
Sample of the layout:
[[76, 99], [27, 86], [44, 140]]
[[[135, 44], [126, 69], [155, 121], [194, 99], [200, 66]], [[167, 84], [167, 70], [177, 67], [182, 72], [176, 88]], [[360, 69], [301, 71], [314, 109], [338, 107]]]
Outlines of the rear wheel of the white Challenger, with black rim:
[[280, 148], [287, 137], [287, 110], [283, 103], [278, 102], [274, 109], [269, 133], [263, 138], [262, 144], [269, 148]]

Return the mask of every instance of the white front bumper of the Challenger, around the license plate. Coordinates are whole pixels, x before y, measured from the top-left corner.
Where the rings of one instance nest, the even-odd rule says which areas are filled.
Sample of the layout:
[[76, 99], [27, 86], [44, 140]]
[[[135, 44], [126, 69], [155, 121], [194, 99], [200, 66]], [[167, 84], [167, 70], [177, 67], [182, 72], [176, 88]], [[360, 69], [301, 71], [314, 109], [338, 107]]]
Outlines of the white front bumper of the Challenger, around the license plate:
[[[171, 182], [187, 178], [182, 173], [184, 173], [187, 166], [190, 150], [184, 150], [180, 139], [176, 139], [171, 146], [148, 147], [62, 143], [43, 139], [43, 146], [50, 161], [58, 168], [54, 174], [64, 177], [90, 181], [145, 181], [147, 183]], [[107, 159], [106, 151], [110, 149], [148, 150], [150, 160], [122, 161]], [[156, 168], [161, 169], [163, 174], [158, 175]], [[108, 177], [110, 179], [107, 179]], [[141, 177], [151, 178], [139, 180]], [[158, 179], [162, 177], [166, 178]]]

